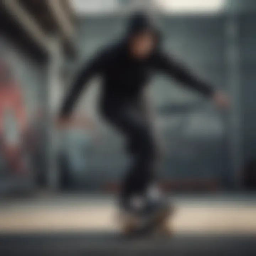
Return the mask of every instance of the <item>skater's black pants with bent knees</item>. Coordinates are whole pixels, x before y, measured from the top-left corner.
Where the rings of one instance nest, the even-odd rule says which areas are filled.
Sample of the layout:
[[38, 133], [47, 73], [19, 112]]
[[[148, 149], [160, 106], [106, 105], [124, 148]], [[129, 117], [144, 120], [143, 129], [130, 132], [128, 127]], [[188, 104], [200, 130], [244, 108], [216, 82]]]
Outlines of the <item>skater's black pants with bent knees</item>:
[[155, 180], [156, 146], [150, 123], [145, 113], [135, 104], [108, 106], [103, 111], [107, 121], [127, 139], [132, 166], [123, 180], [121, 200], [133, 194], [144, 194]]

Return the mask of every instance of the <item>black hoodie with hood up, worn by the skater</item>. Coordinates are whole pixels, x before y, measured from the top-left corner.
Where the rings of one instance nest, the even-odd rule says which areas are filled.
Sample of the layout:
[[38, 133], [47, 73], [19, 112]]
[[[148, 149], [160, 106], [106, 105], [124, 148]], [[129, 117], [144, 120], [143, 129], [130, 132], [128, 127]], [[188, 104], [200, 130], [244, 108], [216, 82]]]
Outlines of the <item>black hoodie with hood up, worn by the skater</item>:
[[[130, 37], [143, 31], [153, 32], [158, 43], [148, 58], [138, 60], [130, 56], [128, 41]], [[129, 20], [124, 39], [101, 50], [82, 66], [73, 86], [71, 86], [71, 91], [65, 98], [61, 115], [66, 116], [70, 113], [82, 89], [95, 75], [100, 75], [103, 80], [101, 97], [103, 108], [110, 107], [110, 105], [118, 107], [138, 98], [143, 87], [148, 84], [151, 75], [156, 72], [165, 73], [206, 96], [212, 95], [212, 87], [162, 52], [159, 41], [160, 33], [150, 17], [143, 13], [133, 15]]]

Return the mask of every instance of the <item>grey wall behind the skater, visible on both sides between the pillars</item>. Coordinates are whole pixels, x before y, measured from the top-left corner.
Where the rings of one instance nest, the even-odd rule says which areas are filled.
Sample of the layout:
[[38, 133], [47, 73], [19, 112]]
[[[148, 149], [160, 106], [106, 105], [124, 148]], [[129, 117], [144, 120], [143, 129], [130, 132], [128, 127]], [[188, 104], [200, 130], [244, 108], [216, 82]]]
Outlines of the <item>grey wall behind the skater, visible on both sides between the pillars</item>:
[[[164, 48], [185, 62], [194, 73], [215, 87], [224, 89], [227, 83], [225, 19], [223, 15], [217, 15], [165, 16], [159, 20], [165, 35]], [[118, 16], [81, 18], [77, 27], [79, 62], [86, 61], [98, 47], [118, 39], [123, 27], [124, 18]], [[97, 118], [93, 106], [99, 91], [98, 81], [92, 84], [96, 86], [91, 87], [87, 96], [81, 97], [78, 108]], [[156, 76], [150, 89], [156, 110], [170, 103], [198, 104], [194, 110], [184, 113], [157, 115], [159, 134], [166, 148], [162, 175], [172, 179], [221, 180], [224, 168], [224, 123], [218, 112], [200, 95], [184, 89], [165, 76]], [[102, 181], [116, 180], [121, 172], [126, 171], [124, 142], [105, 123], [100, 122], [100, 126], [101, 146], [96, 156], [98, 165], [95, 175], [97, 173]]]

